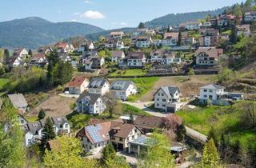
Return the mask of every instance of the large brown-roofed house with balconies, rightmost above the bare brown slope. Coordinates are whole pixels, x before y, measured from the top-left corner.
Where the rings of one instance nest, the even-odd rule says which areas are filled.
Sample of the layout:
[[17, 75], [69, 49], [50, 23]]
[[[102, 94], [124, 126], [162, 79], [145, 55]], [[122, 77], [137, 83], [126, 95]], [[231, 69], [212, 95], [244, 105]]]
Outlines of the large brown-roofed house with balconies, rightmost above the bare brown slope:
[[216, 66], [223, 50], [214, 47], [200, 47], [195, 51], [197, 66]]

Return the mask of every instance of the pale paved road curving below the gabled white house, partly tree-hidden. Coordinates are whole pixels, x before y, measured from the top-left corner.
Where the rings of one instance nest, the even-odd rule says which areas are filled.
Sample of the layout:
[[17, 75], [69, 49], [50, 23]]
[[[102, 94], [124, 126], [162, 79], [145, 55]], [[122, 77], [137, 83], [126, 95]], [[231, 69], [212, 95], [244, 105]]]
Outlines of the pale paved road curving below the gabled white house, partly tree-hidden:
[[[138, 109], [144, 110], [146, 113], [154, 115], [154, 116], [166, 118], [166, 115], [167, 115], [167, 114], [162, 114], [162, 113], [156, 112], [156, 111], [146, 107], [147, 104], [150, 104], [152, 102], [123, 102], [123, 103], [126, 103], [130, 106], [135, 106]], [[193, 129], [187, 127], [187, 126], [186, 126], [186, 134], [188, 136], [190, 136], [191, 138], [198, 139], [200, 142], [206, 142], [207, 141], [206, 135], [201, 134], [198, 131], [193, 130]]]

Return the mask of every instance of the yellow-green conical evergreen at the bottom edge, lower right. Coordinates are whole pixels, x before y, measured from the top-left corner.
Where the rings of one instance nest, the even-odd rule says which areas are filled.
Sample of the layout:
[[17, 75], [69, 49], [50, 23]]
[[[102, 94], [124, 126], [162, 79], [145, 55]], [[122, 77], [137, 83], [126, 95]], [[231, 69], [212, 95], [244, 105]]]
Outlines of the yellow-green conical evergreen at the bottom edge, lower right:
[[202, 151], [202, 160], [200, 162], [201, 167], [218, 167], [220, 163], [220, 158], [218, 155], [217, 148], [214, 144], [214, 139], [206, 143]]

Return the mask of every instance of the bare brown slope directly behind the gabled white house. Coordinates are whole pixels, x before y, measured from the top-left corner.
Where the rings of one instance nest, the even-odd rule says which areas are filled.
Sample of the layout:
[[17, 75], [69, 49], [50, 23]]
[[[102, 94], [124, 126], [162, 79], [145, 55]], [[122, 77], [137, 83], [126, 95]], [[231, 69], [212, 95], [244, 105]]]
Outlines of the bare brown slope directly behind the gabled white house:
[[182, 97], [189, 97], [192, 94], [199, 94], [199, 88], [207, 84], [214, 82], [214, 75], [197, 75], [192, 76], [190, 80], [187, 76], [180, 77], [162, 77], [158, 82], [154, 83], [154, 86], [150, 91], [140, 98], [141, 102], [150, 102], [154, 98], [154, 93], [161, 86], [178, 86], [182, 92]]

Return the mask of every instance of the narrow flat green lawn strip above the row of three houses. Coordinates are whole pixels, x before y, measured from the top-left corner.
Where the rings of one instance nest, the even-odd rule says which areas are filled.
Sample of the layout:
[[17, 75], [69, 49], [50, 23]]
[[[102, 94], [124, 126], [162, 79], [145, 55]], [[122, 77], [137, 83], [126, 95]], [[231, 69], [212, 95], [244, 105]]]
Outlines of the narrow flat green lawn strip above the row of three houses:
[[146, 72], [142, 71], [142, 69], [130, 69], [130, 70], [117, 70], [111, 74], [110, 77], [125, 77], [125, 76], [142, 76], [145, 75]]

